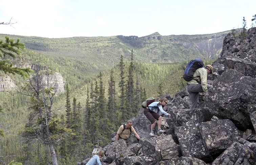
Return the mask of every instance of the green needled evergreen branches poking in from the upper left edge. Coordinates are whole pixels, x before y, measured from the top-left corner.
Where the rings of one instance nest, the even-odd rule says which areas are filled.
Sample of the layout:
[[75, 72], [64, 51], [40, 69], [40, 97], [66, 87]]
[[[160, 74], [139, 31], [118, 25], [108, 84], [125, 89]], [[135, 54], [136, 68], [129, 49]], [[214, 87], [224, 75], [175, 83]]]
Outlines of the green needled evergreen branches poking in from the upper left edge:
[[28, 78], [29, 74], [32, 72], [30, 68], [19, 68], [13, 67], [13, 63], [10, 60], [6, 59], [6, 56], [16, 58], [16, 55], [21, 53], [21, 50], [24, 49], [24, 44], [20, 43], [20, 39], [17, 39], [14, 42], [13, 39], [5, 37], [5, 42], [0, 40], [0, 71], [11, 74], [21, 75], [23, 78]]

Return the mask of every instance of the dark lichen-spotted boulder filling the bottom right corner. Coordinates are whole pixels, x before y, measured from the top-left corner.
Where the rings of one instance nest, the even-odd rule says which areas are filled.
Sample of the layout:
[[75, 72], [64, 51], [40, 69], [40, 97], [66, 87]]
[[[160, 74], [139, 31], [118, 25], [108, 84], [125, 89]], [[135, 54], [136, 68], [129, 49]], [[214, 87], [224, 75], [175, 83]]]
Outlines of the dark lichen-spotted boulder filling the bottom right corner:
[[212, 165], [255, 165], [256, 144], [244, 139], [233, 143]]

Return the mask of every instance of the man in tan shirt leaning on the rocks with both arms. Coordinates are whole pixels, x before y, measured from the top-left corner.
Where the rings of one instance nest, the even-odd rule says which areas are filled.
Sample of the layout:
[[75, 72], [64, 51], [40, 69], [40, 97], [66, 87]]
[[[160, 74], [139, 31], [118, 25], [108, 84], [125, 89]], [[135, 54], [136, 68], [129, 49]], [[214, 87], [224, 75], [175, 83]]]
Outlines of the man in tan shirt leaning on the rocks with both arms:
[[115, 140], [124, 139], [127, 142], [127, 139], [130, 138], [131, 132], [135, 137], [140, 140], [140, 136], [136, 133], [132, 127], [132, 121], [128, 120], [126, 124], [123, 124], [119, 127], [118, 132], [116, 133]]

